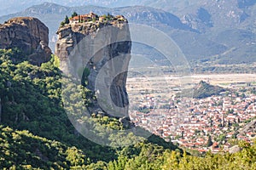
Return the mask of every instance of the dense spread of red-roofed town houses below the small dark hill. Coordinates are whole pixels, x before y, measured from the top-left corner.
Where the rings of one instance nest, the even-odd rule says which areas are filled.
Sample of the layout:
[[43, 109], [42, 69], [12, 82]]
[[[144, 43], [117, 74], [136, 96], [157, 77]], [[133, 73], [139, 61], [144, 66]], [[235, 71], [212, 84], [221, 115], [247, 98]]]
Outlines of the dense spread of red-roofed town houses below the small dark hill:
[[253, 142], [256, 136], [256, 128], [239, 133], [256, 117], [256, 94], [168, 100], [148, 95], [141, 103], [141, 107], [150, 109], [147, 113], [131, 111], [135, 125], [192, 150], [229, 150], [229, 139]]

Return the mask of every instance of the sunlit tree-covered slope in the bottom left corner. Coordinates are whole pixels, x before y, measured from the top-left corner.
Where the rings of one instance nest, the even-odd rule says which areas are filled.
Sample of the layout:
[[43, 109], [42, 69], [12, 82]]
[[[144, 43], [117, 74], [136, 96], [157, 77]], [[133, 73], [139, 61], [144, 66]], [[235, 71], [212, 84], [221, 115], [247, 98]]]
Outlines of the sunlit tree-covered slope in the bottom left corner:
[[0, 167], [2, 169], [4, 167], [60, 169], [87, 161], [82, 150], [35, 136], [26, 130], [18, 131], [0, 126], [0, 132]]

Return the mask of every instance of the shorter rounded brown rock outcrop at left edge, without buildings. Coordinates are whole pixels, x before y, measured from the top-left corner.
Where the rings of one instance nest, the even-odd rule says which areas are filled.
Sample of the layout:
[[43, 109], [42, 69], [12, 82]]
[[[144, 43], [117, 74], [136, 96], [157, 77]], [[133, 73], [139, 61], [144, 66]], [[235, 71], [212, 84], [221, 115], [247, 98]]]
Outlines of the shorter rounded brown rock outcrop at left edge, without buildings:
[[49, 30], [40, 20], [17, 17], [0, 25], [0, 48], [19, 48], [32, 64], [40, 65], [50, 59]]

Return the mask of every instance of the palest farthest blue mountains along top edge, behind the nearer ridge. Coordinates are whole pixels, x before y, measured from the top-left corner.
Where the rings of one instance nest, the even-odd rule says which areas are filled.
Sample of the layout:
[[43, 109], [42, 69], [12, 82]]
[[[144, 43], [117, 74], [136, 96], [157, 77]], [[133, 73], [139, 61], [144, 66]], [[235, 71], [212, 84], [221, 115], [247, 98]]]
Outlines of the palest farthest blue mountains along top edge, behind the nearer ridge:
[[[212, 17], [211, 23], [215, 26], [221, 27], [247, 27], [255, 18], [255, 0], [28, 0], [28, 1], [18, 1], [10, 0], [4, 1], [0, 0], [0, 3], [4, 4], [0, 7], [0, 15], [10, 14], [29, 8], [32, 5], [40, 3], [57, 3], [67, 7], [79, 7], [84, 5], [94, 5], [102, 6], [108, 8], [117, 8], [125, 6], [147, 6], [153, 8], [160, 8], [166, 12], [176, 14], [179, 18], [186, 20], [193, 18], [193, 20], [204, 20], [205, 16]], [[202, 10], [203, 9], [203, 10]], [[204, 14], [203, 17], [202, 14]], [[205, 15], [206, 14], [206, 15]], [[254, 16], [254, 17], [253, 17]], [[204, 18], [204, 19], [203, 19]], [[254, 20], [255, 21], [255, 20]], [[255, 22], [254, 22], [255, 26]]]

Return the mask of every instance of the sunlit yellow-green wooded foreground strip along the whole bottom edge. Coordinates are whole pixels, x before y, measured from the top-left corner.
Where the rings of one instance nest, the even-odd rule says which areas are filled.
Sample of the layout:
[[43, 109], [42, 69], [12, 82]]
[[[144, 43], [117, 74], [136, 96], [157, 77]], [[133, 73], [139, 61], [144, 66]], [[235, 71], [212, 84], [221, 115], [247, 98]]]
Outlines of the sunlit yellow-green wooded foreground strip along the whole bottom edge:
[[[234, 154], [213, 155], [204, 158], [188, 156], [179, 151], [164, 150], [152, 144], [137, 144], [133, 148], [121, 150], [119, 158], [114, 161], [97, 161], [90, 159], [82, 150], [68, 147], [57, 141], [32, 135], [27, 131], [17, 131], [0, 126], [0, 167], [11, 169], [241, 169], [255, 168], [255, 144], [241, 143], [243, 148]], [[137, 153], [139, 153], [137, 155]], [[233, 160], [233, 161], [230, 161]], [[236, 164], [237, 163], [237, 164]]]

